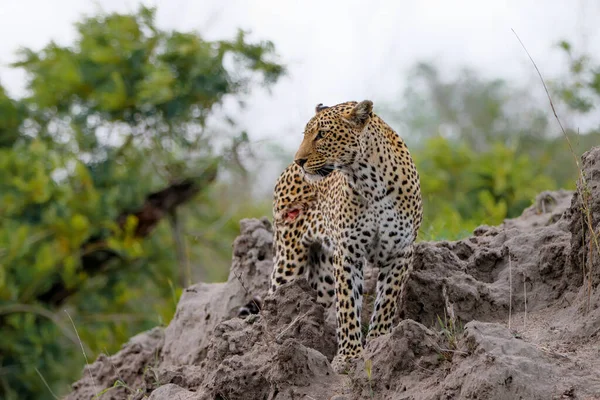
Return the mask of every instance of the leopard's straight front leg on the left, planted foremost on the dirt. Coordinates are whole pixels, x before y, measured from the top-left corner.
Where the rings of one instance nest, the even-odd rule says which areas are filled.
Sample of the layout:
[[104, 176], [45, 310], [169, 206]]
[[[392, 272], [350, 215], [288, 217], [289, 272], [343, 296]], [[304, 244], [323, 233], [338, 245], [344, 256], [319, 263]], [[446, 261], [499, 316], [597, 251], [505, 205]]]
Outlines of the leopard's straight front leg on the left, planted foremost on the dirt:
[[351, 359], [362, 354], [360, 313], [363, 257], [351, 246], [340, 246], [334, 255], [338, 350], [331, 366], [337, 373], [347, 370]]

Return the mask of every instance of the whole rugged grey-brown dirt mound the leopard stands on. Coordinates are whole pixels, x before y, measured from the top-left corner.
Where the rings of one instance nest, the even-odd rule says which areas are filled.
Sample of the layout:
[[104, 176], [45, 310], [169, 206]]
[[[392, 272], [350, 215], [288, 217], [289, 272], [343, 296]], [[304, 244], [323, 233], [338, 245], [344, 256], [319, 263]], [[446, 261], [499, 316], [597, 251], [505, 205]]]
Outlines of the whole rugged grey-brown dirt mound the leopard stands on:
[[166, 329], [100, 356], [68, 399], [600, 399], [600, 148], [582, 160], [577, 193], [544, 192], [499, 227], [419, 243], [397, 326], [347, 374], [329, 364], [333, 310], [305, 280], [266, 296], [271, 226], [248, 219], [228, 281], [188, 288]]

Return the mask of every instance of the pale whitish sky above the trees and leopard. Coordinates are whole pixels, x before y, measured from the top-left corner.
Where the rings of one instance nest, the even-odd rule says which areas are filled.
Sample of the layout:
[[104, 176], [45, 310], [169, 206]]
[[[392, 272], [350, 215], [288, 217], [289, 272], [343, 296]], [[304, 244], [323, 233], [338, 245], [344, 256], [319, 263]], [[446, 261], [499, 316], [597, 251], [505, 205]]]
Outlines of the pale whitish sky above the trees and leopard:
[[[39, 49], [50, 40], [69, 44], [83, 13], [134, 11], [136, 0], [0, 0], [0, 63], [19, 46]], [[546, 77], [565, 69], [560, 39], [600, 53], [597, 0], [155, 0], [163, 28], [197, 30], [207, 39], [251, 38], [275, 43], [289, 76], [271, 94], [257, 91], [239, 115], [254, 140], [294, 148], [317, 103], [371, 99], [393, 104], [403, 74], [432, 59], [446, 70], [468, 65], [488, 77], [532, 83], [537, 77], [511, 28]], [[24, 75], [0, 68], [11, 94], [23, 94]]]

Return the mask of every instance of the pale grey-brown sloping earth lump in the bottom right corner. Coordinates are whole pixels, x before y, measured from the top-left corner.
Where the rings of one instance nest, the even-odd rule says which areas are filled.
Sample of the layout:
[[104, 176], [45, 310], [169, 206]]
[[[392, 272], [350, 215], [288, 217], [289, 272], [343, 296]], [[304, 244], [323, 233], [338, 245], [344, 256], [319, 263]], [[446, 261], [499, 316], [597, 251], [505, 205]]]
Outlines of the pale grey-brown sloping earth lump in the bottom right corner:
[[[515, 337], [505, 326], [473, 321], [465, 331], [470, 356], [446, 377], [445, 393], [454, 391], [458, 398], [507, 400], [600, 393], [600, 376], [581, 370], [569, 357]], [[459, 387], [457, 381], [461, 382]]]

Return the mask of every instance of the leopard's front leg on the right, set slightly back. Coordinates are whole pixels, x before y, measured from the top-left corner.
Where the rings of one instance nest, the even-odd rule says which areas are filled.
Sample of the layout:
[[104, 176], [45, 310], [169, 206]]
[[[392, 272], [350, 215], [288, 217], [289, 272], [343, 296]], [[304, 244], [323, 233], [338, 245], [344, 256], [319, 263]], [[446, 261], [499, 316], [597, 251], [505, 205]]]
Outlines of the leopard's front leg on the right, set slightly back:
[[377, 277], [377, 298], [369, 324], [367, 340], [390, 332], [396, 303], [412, 270], [413, 246], [406, 246], [396, 257], [380, 264]]

